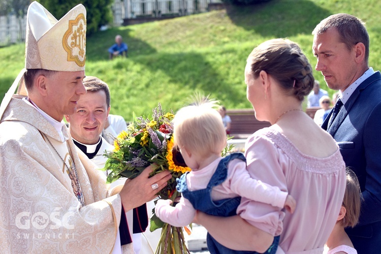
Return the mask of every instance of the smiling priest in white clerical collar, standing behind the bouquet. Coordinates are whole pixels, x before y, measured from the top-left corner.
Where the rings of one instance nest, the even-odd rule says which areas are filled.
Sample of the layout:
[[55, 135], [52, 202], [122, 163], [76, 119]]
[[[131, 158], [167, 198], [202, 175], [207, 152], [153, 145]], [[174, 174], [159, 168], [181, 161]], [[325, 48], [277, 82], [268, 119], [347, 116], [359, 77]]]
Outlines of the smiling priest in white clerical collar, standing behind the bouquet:
[[[101, 133], [105, 128], [111, 107], [110, 90], [104, 81], [92, 76], [86, 76], [83, 79], [83, 85], [85, 86], [87, 93], [83, 94], [78, 100], [76, 112], [71, 115], [65, 115], [65, 118], [69, 122], [69, 130], [74, 144], [83, 153], [85, 153], [86, 156], [94, 164], [96, 164], [98, 168], [104, 168], [107, 161], [107, 156], [103, 155], [105, 150], [114, 150], [114, 146], [109, 144], [101, 136]], [[116, 117], [116, 119], [120, 118], [122, 117]], [[111, 122], [114, 121], [111, 120]], [[122, 121], [117, 122], [124, 122], [125, 125], [123, 118]], [[123, 125], [121, 128], [124, 128]], [[118, 179], [117, 181], [111, 183], [111, 186], [124, 184], [124, 182], [125, 178]], [[151, 203], [153, 207], [153, 201], [151, 201]], [[133, 210], [127, 211], [126, 218], [129, 222], [129, 225], [133, 225], [133, 227], [130, 227], [130, 234], [133, 237], [132, 240], [134, 243], [133, 246], [135, 253], [153, 253], [160, 236], [153, 237], [154, 239], [151, 239], [151, 242], [149, 243], [144, 240], [142, 244], [142, 240], [147, 238], [147, 235], [142, 238], [142, 232], [144, 232], [148, 226], [146, 204], [134, 208]], [[145, 234], [152, 235], [149, 230], [147, 230], [147, 233]], [[149, 238], [152, 237], [149, 236]]]

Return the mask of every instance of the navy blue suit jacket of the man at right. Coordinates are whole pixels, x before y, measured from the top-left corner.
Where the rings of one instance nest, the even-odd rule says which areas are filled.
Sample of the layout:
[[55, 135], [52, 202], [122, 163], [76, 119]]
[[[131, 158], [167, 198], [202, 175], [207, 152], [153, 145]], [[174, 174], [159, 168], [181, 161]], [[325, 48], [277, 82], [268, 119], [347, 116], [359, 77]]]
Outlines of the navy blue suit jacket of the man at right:
[[[322, 128], [327, 125], [332, 112]], [[381, 253], [381, 74], [363, 81], [327, 130], [345, 165], [359, 178], [364, 202], [359, 225], [346, 230], [358, 253]]]

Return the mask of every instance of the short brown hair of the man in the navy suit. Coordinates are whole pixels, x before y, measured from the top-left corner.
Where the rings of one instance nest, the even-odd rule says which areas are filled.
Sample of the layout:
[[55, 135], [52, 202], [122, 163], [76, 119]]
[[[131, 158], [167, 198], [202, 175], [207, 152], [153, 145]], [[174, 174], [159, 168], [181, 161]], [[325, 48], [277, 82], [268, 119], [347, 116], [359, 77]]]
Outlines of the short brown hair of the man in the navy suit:
[[337, 29], [341, 42], [346, 45], [348, 50], [351, 50], [359, 42], [363, 43], [365, 45], [365, 61], [368, 62], [369, 35], [365, 23], [361, 19], [345, 13], [334, 14], [316, 25], [312, 35], [324, 34], [330, 28]]

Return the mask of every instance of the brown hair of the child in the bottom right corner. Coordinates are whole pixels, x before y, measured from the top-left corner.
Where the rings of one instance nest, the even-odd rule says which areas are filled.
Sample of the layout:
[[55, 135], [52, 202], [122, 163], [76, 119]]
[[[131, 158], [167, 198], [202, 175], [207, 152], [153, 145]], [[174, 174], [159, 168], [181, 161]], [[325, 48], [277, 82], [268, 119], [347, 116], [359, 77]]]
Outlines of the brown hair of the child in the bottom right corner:
[[340, 221], [341, 225], [346, 227], [355, 227], [359, 221], [361, 206], [361, 190], [359, 180], [355, 172], [350, 168], [346, 168], [346, 188], [342, 206], [345, 207], [346, 213]]

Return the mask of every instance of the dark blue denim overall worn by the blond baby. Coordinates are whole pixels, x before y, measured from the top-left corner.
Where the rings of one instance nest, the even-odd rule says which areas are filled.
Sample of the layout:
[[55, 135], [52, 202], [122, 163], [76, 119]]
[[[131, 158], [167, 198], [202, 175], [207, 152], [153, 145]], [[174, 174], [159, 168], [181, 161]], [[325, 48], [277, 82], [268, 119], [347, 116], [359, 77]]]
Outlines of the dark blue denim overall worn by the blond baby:
[[[208, 186], [205, 189], [194, 190], [190, 192], [186, 185], [186, 174], [183, 174], [180, 178], [177, 178], [177, 191], [181, 192], [183, 197], [188, 199], [190, 203], [192, 203], [193, 207], [196, 210], [205, 212], [209, 215], [214, 216], [233, 216], [236, 215], [237, 207], [241, 202], [241, 197], [223, 199], [213, 201], [211, 198], [212, 188], [216, 185], [224, 182], [228, 176], [228, 164], [231, 160], [238, 158], [246, 162], [246, 158], [242, 153], [232, 153], [226, 157], [224, 157], [218, 164], [217, 169], [213, 176], [211, 177]], [[233, 250], [227, 248], [220, 243], [218, 243], [209, 233], [206, 237], [208, 250], [211, 254], [255, 254], [258, 253], [256, 251], [243, 251], [243, 250]], [[279, 236], [274, 237], [274, 241], [269, 249], [265, 251], [265, 253], [275, 253], [279, 244]]]

